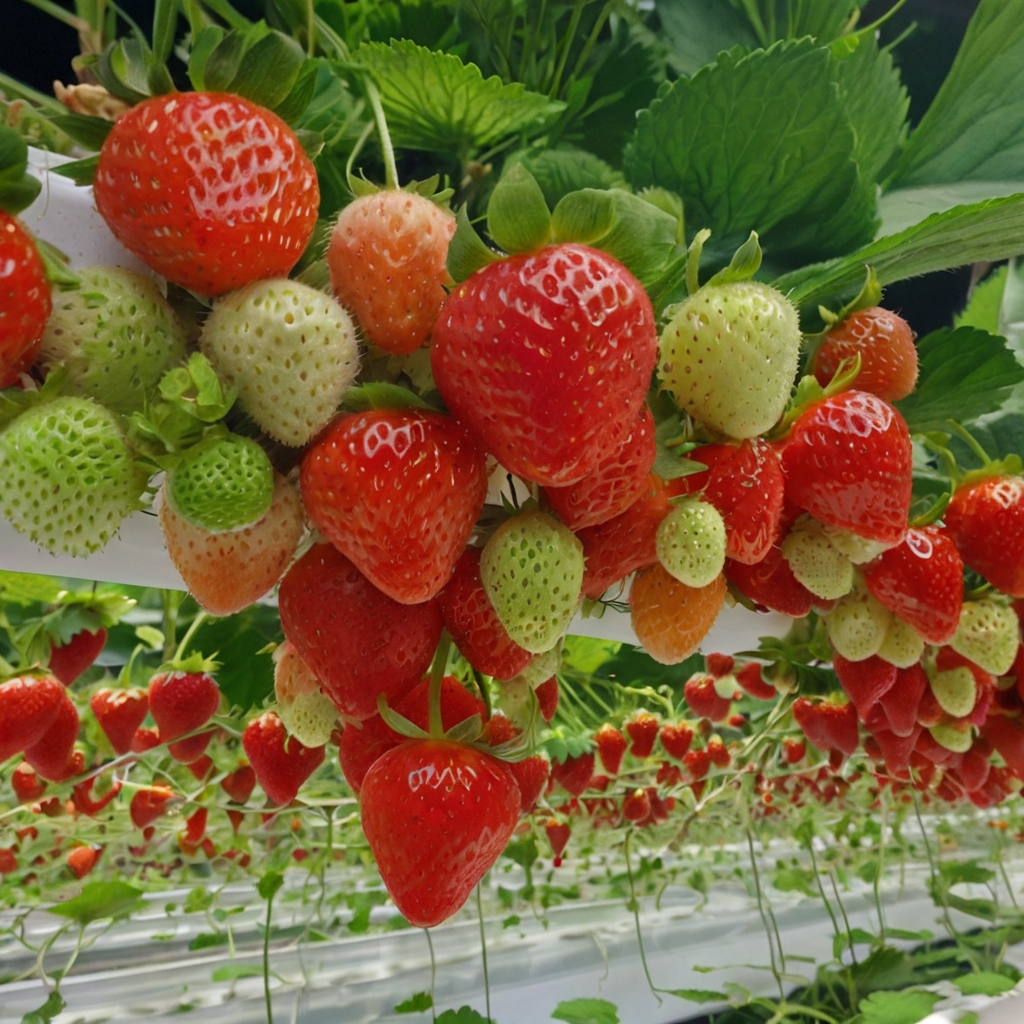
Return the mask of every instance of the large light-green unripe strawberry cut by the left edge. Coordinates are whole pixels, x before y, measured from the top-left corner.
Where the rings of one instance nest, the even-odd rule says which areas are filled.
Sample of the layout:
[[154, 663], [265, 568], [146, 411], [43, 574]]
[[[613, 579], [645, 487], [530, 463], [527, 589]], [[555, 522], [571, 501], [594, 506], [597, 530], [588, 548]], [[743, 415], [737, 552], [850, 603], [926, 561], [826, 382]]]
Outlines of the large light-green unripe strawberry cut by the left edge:
[[89, 398], [65, 397], [23, 413], [0, 433], [0, 509], [51, 552], [99, 551], [140, 508], [146, 474], [117, 416]]

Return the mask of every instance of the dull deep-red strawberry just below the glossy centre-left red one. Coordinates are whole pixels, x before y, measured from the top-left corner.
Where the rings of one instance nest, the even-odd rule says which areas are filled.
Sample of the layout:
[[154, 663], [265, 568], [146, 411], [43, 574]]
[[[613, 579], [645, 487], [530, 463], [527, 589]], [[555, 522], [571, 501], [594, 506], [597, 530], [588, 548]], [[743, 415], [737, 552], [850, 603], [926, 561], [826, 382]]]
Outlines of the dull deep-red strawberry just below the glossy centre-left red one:
[[289, 569], [278, 597], [285, 636], [324, 692], [350, 718], [394, 707], [430, 665], [443, 622], [436, 600], [399, 604], [333, 545], [317, 544]]

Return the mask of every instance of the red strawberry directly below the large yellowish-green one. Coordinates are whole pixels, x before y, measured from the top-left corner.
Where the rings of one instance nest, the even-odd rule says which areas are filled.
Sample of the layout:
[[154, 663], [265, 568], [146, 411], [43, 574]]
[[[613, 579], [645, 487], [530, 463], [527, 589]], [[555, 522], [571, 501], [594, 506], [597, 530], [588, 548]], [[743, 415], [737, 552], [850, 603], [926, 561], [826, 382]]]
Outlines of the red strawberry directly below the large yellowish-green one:
[[726, 555], [755, 565], [768, 554], [782, 515], [783, 477], [775, 446], [754, 438], [738, 447], [706, 444], [690, 458], [707, 471], [683, 476], [669, 485], [671, 494], [695, 494], [714, 505], [725, 520]]

